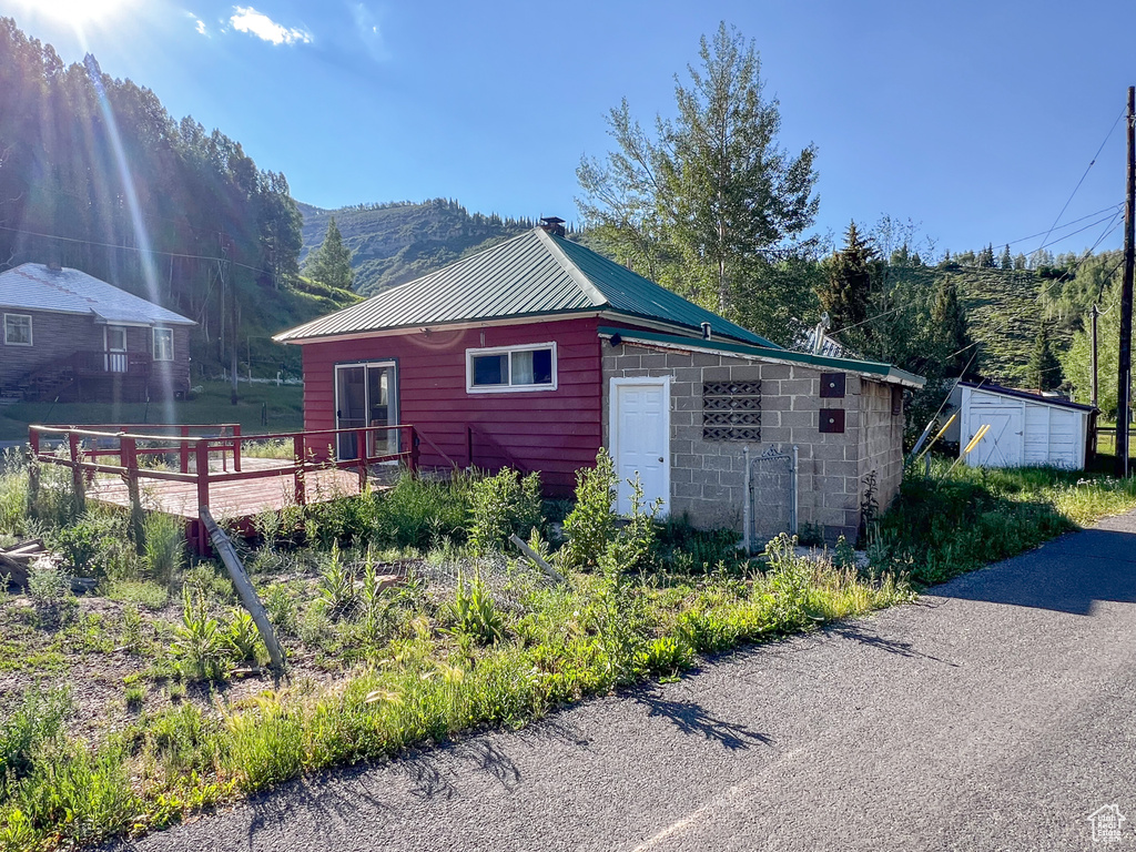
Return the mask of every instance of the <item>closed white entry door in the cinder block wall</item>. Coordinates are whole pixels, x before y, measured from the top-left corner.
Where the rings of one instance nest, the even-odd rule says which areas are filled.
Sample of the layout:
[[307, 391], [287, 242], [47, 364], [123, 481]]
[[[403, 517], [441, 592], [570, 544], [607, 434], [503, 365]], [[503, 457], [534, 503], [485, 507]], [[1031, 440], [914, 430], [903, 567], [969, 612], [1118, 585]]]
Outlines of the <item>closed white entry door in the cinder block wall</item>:
[[662, 498], [660, 515], [670, 508], [670, 377], [612, 378], [609, 420], [611, 458], [619, 478], [616, 510], [632, 510], [627, 482], [636, 474], [643, 499]]

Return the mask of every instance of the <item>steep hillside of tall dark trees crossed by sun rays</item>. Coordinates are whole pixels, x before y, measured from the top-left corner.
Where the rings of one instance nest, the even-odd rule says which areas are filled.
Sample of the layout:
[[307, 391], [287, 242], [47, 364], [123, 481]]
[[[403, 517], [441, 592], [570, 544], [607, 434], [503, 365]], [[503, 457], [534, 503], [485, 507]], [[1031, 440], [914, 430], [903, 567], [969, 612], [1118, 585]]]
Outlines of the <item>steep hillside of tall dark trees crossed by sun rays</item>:
[[202, 370], [251, 350], [272, 374], [299, 361], [272, 334], [354, 300], [299, 277], [300, 226], [284, 175], [239, 142], [0, 18], [2, 268], [76, 267], [194, 319]]

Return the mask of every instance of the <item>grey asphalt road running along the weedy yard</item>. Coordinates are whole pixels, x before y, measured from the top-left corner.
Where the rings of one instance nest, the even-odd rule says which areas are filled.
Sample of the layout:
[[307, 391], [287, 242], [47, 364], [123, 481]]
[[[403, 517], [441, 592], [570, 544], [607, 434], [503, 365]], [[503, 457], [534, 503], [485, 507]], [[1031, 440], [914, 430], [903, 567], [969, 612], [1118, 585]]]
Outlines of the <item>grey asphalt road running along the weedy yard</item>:
[[[1136, 845], [1136, 516], [517, 734], [289, 785], [169, 850]], [[1121, 843], [1092, 840], [1101, 805]]]

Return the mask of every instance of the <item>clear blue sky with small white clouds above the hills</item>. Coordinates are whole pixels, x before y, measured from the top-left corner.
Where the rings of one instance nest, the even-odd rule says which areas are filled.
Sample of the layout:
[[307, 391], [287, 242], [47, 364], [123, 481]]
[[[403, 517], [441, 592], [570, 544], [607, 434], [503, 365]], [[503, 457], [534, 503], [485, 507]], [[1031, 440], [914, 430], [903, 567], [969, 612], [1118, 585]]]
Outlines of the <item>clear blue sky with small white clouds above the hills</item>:
[[[650, 123], [720, 20], [752, 37], [782, 142], [818, 147], [819, 233], [887, 214], [937, 250], [1045, 232], [1136, 83], [1136, 5], [0, 0], [65, 61], [154, 90], [321, 207], [457, 198], [577, 216], [575, 168], [626, 97]], [[1062, 217], [1122, 200], [1117, 124]], [[1094, 243], [1105, 214], [1051, 240]], [[1037, 236], [1012, 245], [1026, 253]], [[1120, 228], [1102, 248], [1120, 244]]]

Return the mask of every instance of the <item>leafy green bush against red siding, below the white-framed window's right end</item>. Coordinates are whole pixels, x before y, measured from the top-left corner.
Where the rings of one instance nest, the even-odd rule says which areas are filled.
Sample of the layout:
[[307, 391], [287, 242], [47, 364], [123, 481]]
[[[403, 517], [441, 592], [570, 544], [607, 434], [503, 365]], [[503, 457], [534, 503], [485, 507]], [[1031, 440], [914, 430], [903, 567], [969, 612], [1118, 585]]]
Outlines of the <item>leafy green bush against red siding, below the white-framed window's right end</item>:
[[520, 477], [503, 468], [495, 476], [475, 479], [470, 491], [469, 544], [475, 553], [503, 551], [510, 535], [528, 537], [544, 524], [541, 517], [541, 477]]

